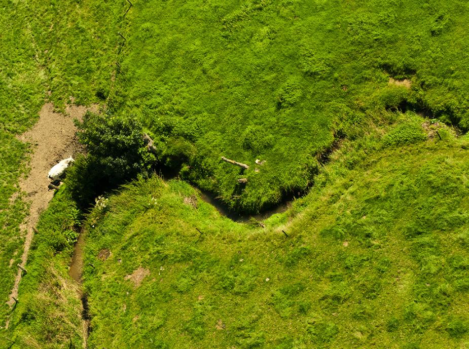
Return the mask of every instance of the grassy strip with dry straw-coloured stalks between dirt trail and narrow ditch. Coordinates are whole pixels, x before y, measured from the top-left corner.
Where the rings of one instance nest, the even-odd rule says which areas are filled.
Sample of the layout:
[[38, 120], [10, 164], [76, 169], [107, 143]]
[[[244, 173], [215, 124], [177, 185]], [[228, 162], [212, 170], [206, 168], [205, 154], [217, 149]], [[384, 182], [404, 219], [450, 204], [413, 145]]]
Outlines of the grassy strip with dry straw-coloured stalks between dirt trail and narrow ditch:
[[[79, 225], [80, 211], [61, 189], [41, 215], [29, 252], [19, 302], [5, 333], [15, 340], [13, 348], [82, 347], [82, 291], [68, 275]], [[0, 343], [12, 344], [5, 338]]]

